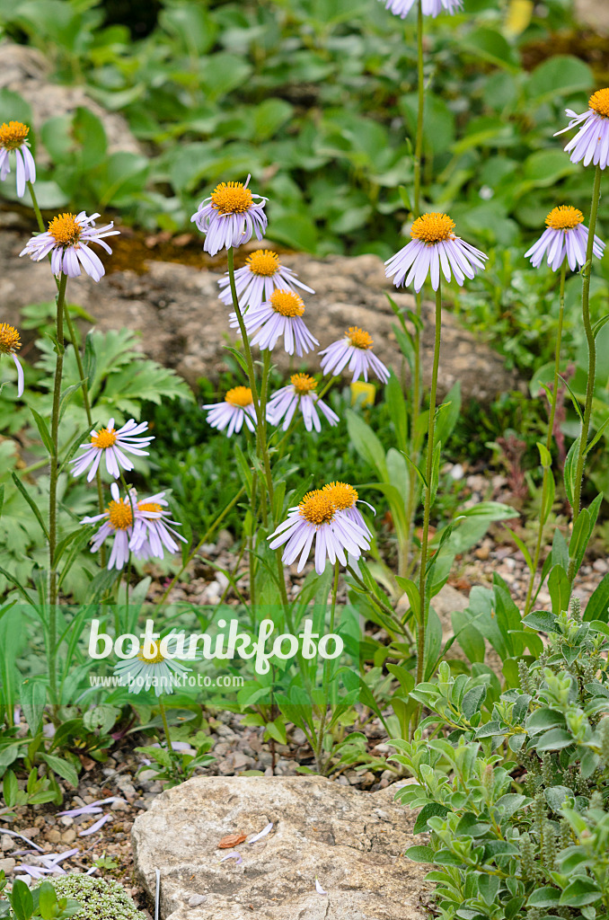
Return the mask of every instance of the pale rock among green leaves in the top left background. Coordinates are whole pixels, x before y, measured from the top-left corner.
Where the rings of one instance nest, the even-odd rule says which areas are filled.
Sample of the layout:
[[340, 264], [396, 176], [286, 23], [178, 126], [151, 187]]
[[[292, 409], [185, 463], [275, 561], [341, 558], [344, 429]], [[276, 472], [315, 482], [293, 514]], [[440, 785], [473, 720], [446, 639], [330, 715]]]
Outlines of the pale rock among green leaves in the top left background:
[[[82, 86], [65, 86], [52, 83], [52, 65], [43, 54], [26, 45], [12, 41], [0, 41], [0, 89], [10, 89], [26, 102], [32, 110], [32, 127], [36, 132], [40, 126], [57, 115], [72, 115], [80, 106], [92, 111], [102, 122], [108, 139], [108, 152], [113, 154], [126, 150], [132, 154], [142, 153], [140, 144], [129, 130], [127, 122], [117, 112], [109, 112], [86, 95]], [[48, 159], [40, 146], [37, 160]]]

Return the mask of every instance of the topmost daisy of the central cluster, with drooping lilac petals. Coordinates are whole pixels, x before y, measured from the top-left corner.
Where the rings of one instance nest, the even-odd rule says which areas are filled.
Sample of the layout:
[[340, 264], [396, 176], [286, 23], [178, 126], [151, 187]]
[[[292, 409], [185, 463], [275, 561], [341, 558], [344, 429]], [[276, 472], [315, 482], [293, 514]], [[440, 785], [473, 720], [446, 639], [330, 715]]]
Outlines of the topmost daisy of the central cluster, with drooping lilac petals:
[[[266, 198], [254, 195], [247, 188], [247, 182], [221, 182], [209, 198], [201, 201], [194, 221], [205, 234], [203, 249], [215, 256], [220, 249], [241, 246], [248, 243], [252, 234], [262, 239], [267, 229], [267, 215], [264, 213]], [[259, 201], [254, 201], [258, 198]]]

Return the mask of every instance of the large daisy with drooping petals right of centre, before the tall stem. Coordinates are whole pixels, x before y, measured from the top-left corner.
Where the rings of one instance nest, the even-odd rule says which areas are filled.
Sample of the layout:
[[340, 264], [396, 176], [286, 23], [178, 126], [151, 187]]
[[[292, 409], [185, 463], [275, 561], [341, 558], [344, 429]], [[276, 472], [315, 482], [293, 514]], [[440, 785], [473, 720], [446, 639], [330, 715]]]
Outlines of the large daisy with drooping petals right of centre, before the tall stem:
[[448, 214], [422, 214], [412, 224], [412, 239], [407, 246], [385, 262], [387, 278], [395, 275], [396, 287], [413, 284], [419, 293], [430, 275], [431, 287], [437, 291], [442, 267], [446, 281], [450, 282], [452, 270], [455, 282], [461, 287], [465, 277], [473, 278], [485, 268], [484, 259], [488, 256], [454, 236], [453, 230], [454, 221]]

